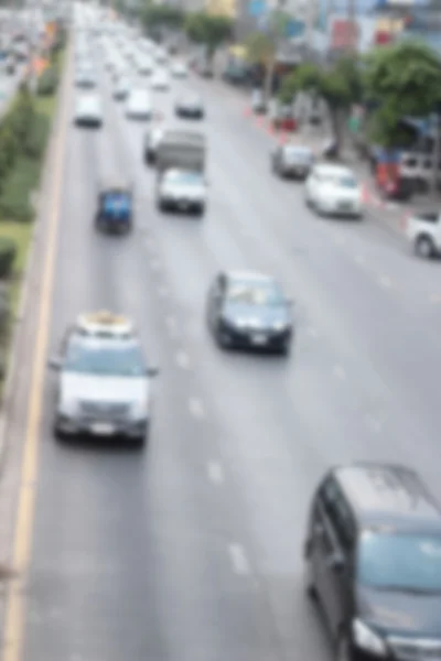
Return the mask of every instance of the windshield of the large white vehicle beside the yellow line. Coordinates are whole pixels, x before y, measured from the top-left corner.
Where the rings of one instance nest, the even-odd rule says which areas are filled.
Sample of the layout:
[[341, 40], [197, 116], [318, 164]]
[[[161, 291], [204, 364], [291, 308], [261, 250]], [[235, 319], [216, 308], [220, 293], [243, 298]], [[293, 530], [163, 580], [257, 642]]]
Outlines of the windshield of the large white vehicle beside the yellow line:
[[107, 377], [141, 377], [146, 367], [132, 343], [72, 342], [64, 362], [65, 371]]

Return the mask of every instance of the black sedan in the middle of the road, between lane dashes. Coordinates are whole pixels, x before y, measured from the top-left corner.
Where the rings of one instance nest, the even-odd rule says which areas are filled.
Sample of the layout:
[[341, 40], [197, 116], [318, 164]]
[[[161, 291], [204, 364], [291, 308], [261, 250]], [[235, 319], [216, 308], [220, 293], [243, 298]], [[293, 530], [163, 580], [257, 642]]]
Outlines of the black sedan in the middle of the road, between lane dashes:
[[208, 294], [208, 326], [219, 346], [289, 354], [292, 303], [281, 285], [251, 272], [219, 273]]

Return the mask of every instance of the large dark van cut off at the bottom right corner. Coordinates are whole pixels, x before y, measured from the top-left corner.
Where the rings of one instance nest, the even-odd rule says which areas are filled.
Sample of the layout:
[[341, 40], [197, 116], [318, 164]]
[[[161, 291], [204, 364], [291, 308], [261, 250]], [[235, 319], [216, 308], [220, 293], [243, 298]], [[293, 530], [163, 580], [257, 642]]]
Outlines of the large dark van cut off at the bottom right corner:
[[441, 661], [441, 508], [413, 470], [331, 470], [304, 554], [338, 661]]

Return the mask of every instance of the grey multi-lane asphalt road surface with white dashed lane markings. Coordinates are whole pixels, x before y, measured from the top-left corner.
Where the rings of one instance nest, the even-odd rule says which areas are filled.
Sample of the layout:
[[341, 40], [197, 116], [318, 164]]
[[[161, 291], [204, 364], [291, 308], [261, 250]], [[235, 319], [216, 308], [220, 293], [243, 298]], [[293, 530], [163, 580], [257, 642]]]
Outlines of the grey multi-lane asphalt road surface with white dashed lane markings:
[[[143, 454], [57, 444], [47, 377], [23, 661], [324, 661], [302, 576], [322, 473], [401, 460], [440, 491], [440, 264], [368, 219], [314, 217], [216, 83], [194, 83], [207, 105], [208, 213], [161, 216], [144, 127], [101, 77], [105, 127], [68, 129], [51, 347], [79, 311], [110, 307], [135, 317], [161, 377]], [[171, 115], [187, 85], [154, 93], [157, 108]], [[101, 236], [97, 182], [125, 174], [137, 228]], [[212, 342], [206, 291], [230, 267], [271, 272], [297, 300], [291, 358]]]

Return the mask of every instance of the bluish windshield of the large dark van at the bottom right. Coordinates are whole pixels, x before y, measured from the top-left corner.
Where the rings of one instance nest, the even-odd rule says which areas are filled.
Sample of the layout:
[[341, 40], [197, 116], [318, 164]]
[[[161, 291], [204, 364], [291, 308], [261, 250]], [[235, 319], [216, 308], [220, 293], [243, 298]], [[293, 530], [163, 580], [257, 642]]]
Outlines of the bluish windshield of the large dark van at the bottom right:
[[376, 589], [441, 592], [441, 535], [366, 531], [357, 574], [362, 585]]

